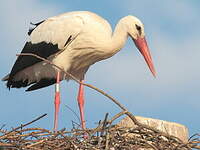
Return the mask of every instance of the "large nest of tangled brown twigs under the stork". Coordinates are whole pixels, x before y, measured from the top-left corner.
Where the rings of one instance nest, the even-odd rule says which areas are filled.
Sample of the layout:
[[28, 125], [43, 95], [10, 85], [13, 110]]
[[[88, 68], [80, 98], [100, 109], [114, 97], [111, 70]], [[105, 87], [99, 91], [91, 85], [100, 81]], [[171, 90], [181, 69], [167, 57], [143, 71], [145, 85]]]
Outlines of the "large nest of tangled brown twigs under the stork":
[[[122, 113], [120, 113], [122, 114]], [[27, 125], [41, 119], [46, 114], [37, 119], [21, 125], [11, 131], [1, 129], [0, 149], [33, 149], [33, 150], [191, 150], [200, 149], [200, 139], [198, 134], [193, 135], [187, 143], [180, 139], [164, 135], [143, 126], [136, 128], [125, 128], [112, 125], [117, 118], [116, 115], [111, 120], [104, 121], [93, 129], [81, 130], [73, 128], [67, 131], [65, 128], [57, 132], [52, 132], [43, 128], [25, 128]]]

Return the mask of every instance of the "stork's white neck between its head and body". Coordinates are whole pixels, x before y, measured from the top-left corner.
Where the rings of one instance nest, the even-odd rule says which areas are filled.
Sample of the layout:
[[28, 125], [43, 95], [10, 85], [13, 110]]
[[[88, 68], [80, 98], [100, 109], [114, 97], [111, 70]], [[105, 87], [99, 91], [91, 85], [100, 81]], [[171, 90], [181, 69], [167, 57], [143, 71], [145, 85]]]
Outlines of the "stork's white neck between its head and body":
[[113, 55], [120, 51], [120, 49], [125, 45], [128, 38], [127, 28], [123, 22], [123, 18], [117, 23], [115, 30], [111, 37], [111, 53]]

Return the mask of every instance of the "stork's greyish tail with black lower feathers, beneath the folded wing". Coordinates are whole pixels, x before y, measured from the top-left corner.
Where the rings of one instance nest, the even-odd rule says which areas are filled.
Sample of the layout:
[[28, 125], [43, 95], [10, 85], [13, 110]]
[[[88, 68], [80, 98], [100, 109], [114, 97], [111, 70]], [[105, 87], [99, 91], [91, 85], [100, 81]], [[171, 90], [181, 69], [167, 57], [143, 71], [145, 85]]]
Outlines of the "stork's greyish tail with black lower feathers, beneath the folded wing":
[[[63, 80], [64, 74], [61, 75], [60, 80]], [[33, 91], [56, 83], [56, 70], [50, 64], [44, 65], [40, 62], [13, 76], [6, 75], [2, 81], [7, 81], [6, 85], [9, 89], [29, 86], [26, 91]]]

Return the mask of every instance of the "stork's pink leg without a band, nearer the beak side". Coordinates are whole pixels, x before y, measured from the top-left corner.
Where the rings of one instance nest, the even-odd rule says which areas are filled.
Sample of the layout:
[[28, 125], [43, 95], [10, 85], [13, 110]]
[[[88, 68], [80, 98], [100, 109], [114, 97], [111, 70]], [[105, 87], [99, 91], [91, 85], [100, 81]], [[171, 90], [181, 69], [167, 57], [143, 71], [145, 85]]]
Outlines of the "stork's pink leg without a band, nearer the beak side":
[[[83, 82], [84, 80], [81, 80]], [[83, 84], [80, 84], [79, 86], [79, 92], [78, 92], [78, 106], [80, 110], [80, 116], [81, 116], [81, 126], [82, 129], [85, 129], [85, 119], [84, 119], [84, 88]]]

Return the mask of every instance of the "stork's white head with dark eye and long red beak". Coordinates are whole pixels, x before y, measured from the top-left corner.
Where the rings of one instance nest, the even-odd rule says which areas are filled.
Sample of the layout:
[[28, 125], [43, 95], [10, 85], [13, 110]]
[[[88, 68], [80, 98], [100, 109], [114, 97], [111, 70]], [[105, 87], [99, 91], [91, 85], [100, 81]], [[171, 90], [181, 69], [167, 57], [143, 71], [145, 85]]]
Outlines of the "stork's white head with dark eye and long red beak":
[[153, 76], [155, 77], [156, 71], [145, 39], [144, 25], [138, 18], [134, 16], [125, 17], [124, 25], [126, 26], [127, 33], [133, 39], [136, 47], [143, 55], [147, 65], [149, 66], [149, 69], [151, 70]]

